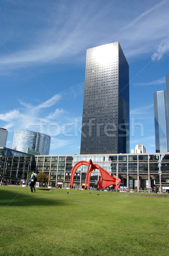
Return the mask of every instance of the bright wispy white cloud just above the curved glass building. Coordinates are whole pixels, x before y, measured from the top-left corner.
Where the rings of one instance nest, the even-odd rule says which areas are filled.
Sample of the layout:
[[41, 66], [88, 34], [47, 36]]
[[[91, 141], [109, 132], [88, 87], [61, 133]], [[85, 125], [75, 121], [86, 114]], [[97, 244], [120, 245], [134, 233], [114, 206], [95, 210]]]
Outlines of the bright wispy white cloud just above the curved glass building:
[[[77, 126], [82, 120], [74, 113], [69, 113], [65, 108], [61, 108], [58, 99], [62, 99], [64, 102], [75, 99], [82, 94], [83, 86], [83, 83], [76, 84], [37, 106], [19, 100], [20, 108], [0, 114], [0, 120], [4, 122], [3, 127], [9, 131], [28, 129], [55, 136], [56, 127], [59, 126], [62, 134], [68, 134], [75, 126], [75, 118]], [[56, 108], [55, 105], [59, 105], [60, 108]], [[55, 127], [55, 131], [51, 127]]]

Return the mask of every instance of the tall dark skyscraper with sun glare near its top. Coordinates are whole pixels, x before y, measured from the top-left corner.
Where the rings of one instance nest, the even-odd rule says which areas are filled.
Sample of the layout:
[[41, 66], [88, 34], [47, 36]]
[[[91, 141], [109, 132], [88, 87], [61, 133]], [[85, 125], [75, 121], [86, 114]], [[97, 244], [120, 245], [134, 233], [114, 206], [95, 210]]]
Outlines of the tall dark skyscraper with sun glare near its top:
[[80, 154], [129, 153], [129, 66], [119, 42], [87, 49]]

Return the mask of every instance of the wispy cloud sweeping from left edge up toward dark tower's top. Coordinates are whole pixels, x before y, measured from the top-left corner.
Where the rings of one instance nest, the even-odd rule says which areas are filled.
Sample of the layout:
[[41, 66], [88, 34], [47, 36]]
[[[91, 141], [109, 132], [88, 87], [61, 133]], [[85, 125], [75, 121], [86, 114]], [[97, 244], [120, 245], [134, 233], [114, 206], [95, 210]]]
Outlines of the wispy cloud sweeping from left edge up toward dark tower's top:
[[[48, 16], [50, 25], [31, 35], [32, 45], [25, 42], [23, 49], [13, 50], [1, 41], [0, 44], [6, 51], [0, 60], [0, 66], [18, 68], [22, 66], [21, 64], [34, 66], [37, 63], [61, 63], [65, 60], [68, 62], [72, 56], [84, 51], [86, 42], [90, 38], [94, 38], [92, 33], [87, 33], [91, 26], [90, 22], [92, 20], [95, 24], [98, 12], [101, 10], [94, 11], [96, 9], [94, 3], [85, 6], [85, 4], [77, 2], [76, 4], [72, 3], [69, 7], [63, 6], [58, 9], [56, 4], [53, 9], [50, 9]], [[93, 11], [91, 11], [92, 9]], [[87, 37], [84, 37], [84, 34], [88, 34]]]

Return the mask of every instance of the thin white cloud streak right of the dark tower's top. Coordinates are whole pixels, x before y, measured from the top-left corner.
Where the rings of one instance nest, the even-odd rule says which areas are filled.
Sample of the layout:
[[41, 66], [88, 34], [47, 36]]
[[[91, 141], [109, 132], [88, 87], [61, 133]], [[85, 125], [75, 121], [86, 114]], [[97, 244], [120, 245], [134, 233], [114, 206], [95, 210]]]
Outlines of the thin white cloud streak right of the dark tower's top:
[[[169, 41], [168, 7], [169, 2], [163, 1], [138, 15], [136, 19], [124, 26], [121, 32], [119, 30], [118, 41], [121, 42], [127, 59], [142, 57], [144, 54], [151, 56], [154, 49], [157, 49], [157, 42], [159, 47], [153, 55], [154, 60], [166, 54], [168, 51], [166, 44]], [[130, 10], [129, 18], [132, 15]], [[124, 17], [124, 24], [128, 19]]]

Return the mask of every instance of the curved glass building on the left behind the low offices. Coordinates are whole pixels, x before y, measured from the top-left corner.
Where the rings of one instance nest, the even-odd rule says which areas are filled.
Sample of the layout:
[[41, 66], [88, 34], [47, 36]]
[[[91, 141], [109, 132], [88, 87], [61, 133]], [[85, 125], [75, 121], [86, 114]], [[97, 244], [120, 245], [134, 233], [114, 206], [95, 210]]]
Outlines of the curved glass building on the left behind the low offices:
[[15, 131], [12, 149], [27, 153], [27, 149], [48, 155], [51, 137], [37, 131]]

